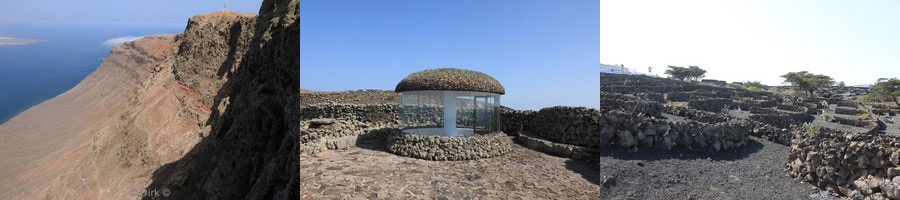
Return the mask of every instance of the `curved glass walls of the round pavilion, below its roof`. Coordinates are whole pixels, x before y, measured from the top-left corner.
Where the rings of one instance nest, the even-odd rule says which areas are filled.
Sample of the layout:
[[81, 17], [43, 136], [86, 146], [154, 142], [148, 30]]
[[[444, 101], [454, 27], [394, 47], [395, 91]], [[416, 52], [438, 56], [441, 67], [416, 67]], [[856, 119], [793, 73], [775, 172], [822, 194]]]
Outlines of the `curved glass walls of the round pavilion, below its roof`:
[[499, 130], [500, 94], [470, 91], [400, 92], [403, 132], [470, 136]]

